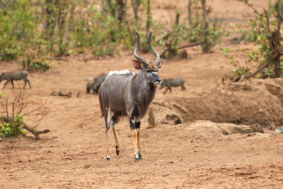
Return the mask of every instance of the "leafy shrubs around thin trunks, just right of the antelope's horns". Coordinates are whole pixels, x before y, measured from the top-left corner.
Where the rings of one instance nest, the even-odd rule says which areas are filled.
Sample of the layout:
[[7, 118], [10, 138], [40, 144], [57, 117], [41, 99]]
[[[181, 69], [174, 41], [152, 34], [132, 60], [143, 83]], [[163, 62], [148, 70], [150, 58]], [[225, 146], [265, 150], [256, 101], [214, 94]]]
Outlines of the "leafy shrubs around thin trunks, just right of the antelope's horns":
[[[202, 8], [200, 13], [199, 9]], [[179, 18], [182, 12], [175, 9], [176, 18], [172, 25], [170, 33], [166, 33], [159, 44], [163, 45], [163, 57], [171, 58], [179, 55], [181, 49], [202, 45], [202, 52], [210, 53], [213, 47], [221, 42], [221, 23], [222, 21], [215, 18], [209, 20], [209, 14], [212, 13], [212, 8], [207, 8], [205, 0], [190, 0], [189, 1], [189, 24], [187, 18], [180, 22]], [[188, 45], [183, 45], [184, 43]], [[186, 57], [186, 56], [185, 56]]]

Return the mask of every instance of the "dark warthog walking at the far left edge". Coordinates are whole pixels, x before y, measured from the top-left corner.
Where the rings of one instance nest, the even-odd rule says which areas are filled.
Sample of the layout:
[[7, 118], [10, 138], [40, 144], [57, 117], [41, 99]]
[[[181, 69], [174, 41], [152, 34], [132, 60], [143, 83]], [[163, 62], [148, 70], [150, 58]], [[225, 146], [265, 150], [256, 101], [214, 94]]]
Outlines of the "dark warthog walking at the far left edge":
[[[25, 82], [25, 85], [28, 82], [28, 85], [30, 86], [30, 80], [28, 80], [28, 71], [20, 70], [20, 71], [2, 72], [0, 76], [0, 83], [4, 79], [6, 79], [6, 83], [4, 84], [3, 88], [5, 88], [6, 84], [8, 84], [9, 81], [11, 81], [11, 84], [13, 86], [13, 81], [21, 80], [21, 79], [23, 79], [23, 81]], [[23, 88], [25, 88], [25, 85], [23, 86]]]

